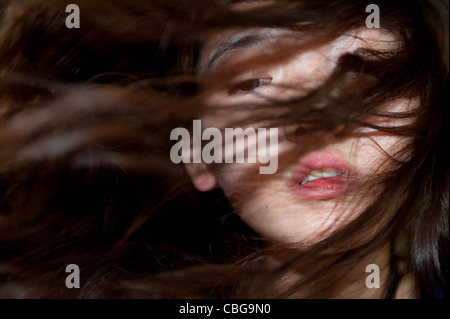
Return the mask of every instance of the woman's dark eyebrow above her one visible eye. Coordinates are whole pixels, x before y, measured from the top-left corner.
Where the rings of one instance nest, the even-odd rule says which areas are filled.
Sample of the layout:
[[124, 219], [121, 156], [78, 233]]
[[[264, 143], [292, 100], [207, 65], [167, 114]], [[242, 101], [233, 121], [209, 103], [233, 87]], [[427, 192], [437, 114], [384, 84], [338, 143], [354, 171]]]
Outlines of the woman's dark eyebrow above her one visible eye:
[[267, 34], [253, 34], [237, 36], [225, 41], [214, 53], [209, 60], [207, 69], [210, 69], [214, 64], [227, 52], [239, 48], [256, 48], [262, 44], [270, 44], [274, 42], [274, 38]]

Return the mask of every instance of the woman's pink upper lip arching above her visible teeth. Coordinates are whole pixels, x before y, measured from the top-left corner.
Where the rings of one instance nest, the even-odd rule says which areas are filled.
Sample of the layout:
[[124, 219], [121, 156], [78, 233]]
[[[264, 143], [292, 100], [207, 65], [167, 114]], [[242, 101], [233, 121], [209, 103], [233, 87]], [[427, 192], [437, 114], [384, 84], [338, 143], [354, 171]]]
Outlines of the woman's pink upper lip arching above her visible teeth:
[[353, 179], [356, 175], [355, 170], [341, 154], [334, 150], [323, 150], [309, 153], [300, 160], [292, 182], [298, 185], [312, 171], [325, 168], [334, 168], [345, 174], [347, 179]]

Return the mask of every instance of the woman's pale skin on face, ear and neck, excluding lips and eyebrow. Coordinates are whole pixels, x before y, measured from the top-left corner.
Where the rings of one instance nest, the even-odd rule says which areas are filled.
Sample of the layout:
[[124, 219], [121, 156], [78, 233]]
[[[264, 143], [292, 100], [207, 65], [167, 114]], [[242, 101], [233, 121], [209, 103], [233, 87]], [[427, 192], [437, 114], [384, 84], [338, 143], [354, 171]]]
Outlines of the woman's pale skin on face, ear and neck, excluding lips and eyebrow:
[[[241, 35], [270, 35], [268, 43], [254, 47], [241, 47], [224, 53], [210, 67], [209, 61], [216, 50], [230, 38]], [[299, 40], [301, 39], [301, 40]], [[277, 29], [230, 30], [215, 34], [206, 39], [200, 56], [199, 73], [206, 78], [204, 94], [211, 105], [217, 107], [214, 114], [202, 118], [204, 127], [225, 128], [233, 120], [249, 116], [251, 111], [226, 113], [227, 107], [240, 103], [257, 103], [264, 98], [278, 100], [306, 95], [319, 87], [331, 74], [338, 58], [360, 48], [389, 50], [399, 45], [392, 34], [380, 29], [355, 30], [331, 42], [305, 46], [307, 36]], [[258, 85], [242, 85], [242, 81], [270, 79]], [[224, 85], [223, 83], [231, 83]], [[253, 88], [255, 86], [255, 88]], [[294, 89], [295, 87], [295, 89]], [[249, 90], [250, 88], [250, 90]], [[389, 112], [411, 110], [415, 101], [398, 100], [385, 105]], [[222, 113], [222, 108], [225, 110]], [[224, 116], [226, 115], [226, 116]], [[405, 120], [371, 119], [373, 123], [397, 126]], [[243, 126], [241, 126], [243, 127]], [[254, 123], [248, 127], [265, 127], [264, 123]], [[243, 127], [245, 129], [245, 126]], [[194, 186], [199, 191], [221, 187], [232, 206], [241, 218], [268, 244], [297, 244], [307, 247], [329, 236], [361, 213], [376, 198], [377, 191], [363, 187], [364, 180], [370, 180], [378, 172], [392, 169], [389, 156], [397, 160], [397, 152], [409, 142], [404, 137], [380, 133], [363, 128], [352, 128], [343, 134], [342, 128], [320, 134], [305, 134], [300, 139], [289, 140], [279, 129], [279, 165], [273, 175], [258, 173], [256, 164], [206, 165], [185, 164]], [[348, 128], [347, 128], [348, 129]], [[304, 200], [290, 189], [290, 183], [299, 162], [305, 155], [330, 151], [345, 159], [360, 176], [358, 191], [348, 192], [337, 198], [326, 200]], [[389, 156], [387, 155], [389, 154]], [[380, 226], [388, 220], [380, 221]], [[374, 229], [376, 233], [377, 229]], [[373, 234], [367, 234], [370, 240]], [[362, 298], [381, 297], [378, 289], [367, 289], [364, 280], [368, 274], [365, 266], [378, 264], [381, 269], [381, 282], [389, 269], [390, 247], [384, 247], [361, 261], [355, 270], [342, 280], [341, 297], [358, 296]], [[411, 280], [405, 279], [397, 297], [411, 297]], [[351, 284], [357, 282], [358, 284]]]

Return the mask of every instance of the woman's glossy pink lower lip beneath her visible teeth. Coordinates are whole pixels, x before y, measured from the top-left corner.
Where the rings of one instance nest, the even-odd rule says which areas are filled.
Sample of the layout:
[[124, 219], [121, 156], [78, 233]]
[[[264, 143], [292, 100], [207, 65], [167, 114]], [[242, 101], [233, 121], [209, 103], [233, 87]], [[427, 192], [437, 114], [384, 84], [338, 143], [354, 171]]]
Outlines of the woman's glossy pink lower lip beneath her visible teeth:
[[303, 185], [297, 184], [291, 189], [302, 199], [320, 200], [339, 197], [348, 192], [353, 184], [351, 178], [335, 176], [319, 178]]

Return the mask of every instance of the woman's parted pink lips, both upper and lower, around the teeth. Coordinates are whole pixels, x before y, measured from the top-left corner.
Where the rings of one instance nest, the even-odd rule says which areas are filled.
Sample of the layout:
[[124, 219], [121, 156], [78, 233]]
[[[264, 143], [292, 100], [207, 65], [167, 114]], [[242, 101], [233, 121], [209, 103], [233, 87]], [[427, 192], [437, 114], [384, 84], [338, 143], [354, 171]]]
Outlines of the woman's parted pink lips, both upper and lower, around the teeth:
[[[336, 169], [343, 176], [322, 177], [301, 184], [315, 170]], [[332, 199], [348, 192], [358, 179], [358, 174], [350, 169], [347, 161], [331, 150], [313, 152], [301, 159], [294, 173], [291, 189], [305, 200]]]

